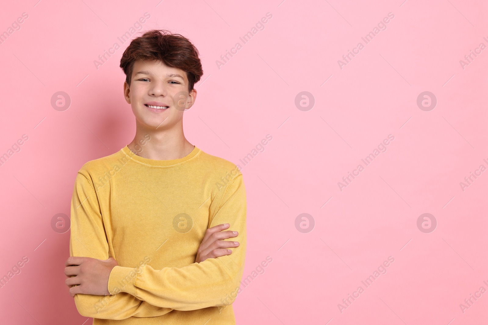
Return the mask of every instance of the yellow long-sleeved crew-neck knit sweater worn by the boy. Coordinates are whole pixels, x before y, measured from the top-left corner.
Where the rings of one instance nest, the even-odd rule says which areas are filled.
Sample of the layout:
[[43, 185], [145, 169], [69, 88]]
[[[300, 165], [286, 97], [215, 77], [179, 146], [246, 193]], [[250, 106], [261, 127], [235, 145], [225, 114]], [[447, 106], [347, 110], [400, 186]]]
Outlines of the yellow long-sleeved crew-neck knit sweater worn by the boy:
[[[127, 146], [85, 163], [71, 201], [70, 255], [119, 263], [111, 295], [77, 294], [93, 324], [235, 324], [246, 250], [246, 195], [235, 164], [197, 148], [153, 160]], [[239, 231], [232, 254], [195, 263], [205, 230]]]

